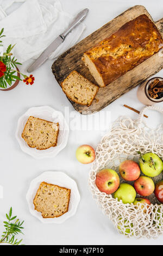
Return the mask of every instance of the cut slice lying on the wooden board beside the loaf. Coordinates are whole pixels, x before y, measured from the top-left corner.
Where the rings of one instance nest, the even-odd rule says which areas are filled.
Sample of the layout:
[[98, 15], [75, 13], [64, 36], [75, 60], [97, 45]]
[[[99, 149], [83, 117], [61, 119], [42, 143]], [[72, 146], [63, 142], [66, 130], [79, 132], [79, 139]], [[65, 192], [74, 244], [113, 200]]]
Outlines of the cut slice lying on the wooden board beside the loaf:
[[61, 83], [61, 87], [70, 100], [87, 106], [91, 105], [99, 89], [75, 70]]

